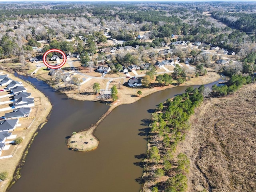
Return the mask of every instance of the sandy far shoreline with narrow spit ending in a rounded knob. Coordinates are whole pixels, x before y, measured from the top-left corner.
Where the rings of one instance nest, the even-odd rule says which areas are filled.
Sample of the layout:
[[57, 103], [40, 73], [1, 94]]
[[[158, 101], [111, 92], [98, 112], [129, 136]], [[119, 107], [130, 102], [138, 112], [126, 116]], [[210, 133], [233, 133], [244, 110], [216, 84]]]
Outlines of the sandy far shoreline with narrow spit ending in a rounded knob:
[[[206, 76], [198, 77], [198, 78], [191, 78], [191, 80], [185, 82], [184, 84], [181, 84], [180, 86], [193, 86], [193, 85], [209, 84], [209, 83], [215, 82], [219, 79], [220, 79], [219, 74], [217, 74], [215, 72], [208, 72]], [[100, 124], [100, 122], [114, 108], [116, 108], [117, 106], [122, 105], [122, 104], [134, 103], [134, 102], [138, 101], [140, 98], [148, 96], [148, 95], [150, 95], [154, 92], [169, 89], [169, 88], [173, 88], [173, 87], [175, 87], [175, 86], [174, 85], [169, 85], [169, 86], [154, 87], [154, 88], [127, 88], [125, 86], [121, 86], [120, 89], [118, 89], [119, 99], [117, 101], [115, 101], [114, 103], [112, 103], [112, 106], [108, 109], [108, 111], [98, 120], [98, 122], [93, 124], [89, 129], [82, 130], [82, 131], [78, 132], [75, 137], [71, 136], [67, 140], [68, 147], [73, 149], [73, 150], [77, 150], [77, 151], [90, 151], [90, 150], [96, 149], [99, 142], [98, 142], [97, 138], [94, 136], [93, 132], [96, 129], [96, 127], [98, 126], [98, 124]], [[136, 95], [138, 90], [142, 91], [142, 96], [140, 96], [140, 97], [134, 96], [134, 95]], [[66, 94], [66, 95], [69, 96], [69, 97], [71, 96], [73, 99], [82, 100], [82, 98], [78, 97], [78, 94]], [[90, 143], [88, 143], [86, 146], [85, 146], [85, 144], [83, 144], [83, 147], [81, 147], [80, 143], [82, 143], [82, 142], [77, 144], [77, 141], [79, 142], [79, 137], [80, 136], [84, 137], [83, 142], [84, 141], [88, 142], [88, 140], [90, 141], [90, 138], [93, 138], [94, 143], [91, 144], [91, 145], [90, 145]]]

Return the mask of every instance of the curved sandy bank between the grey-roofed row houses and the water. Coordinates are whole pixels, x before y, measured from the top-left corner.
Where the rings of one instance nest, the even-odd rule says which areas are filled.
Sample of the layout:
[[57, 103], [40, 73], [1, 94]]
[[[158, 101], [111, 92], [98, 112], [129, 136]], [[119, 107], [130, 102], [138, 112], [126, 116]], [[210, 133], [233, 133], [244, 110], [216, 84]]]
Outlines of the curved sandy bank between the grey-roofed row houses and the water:
[[38, 127], [47, 121], [47, 116], [52, 109], [52, 105], [50, 104], [48, 98], [42, 92], [36, 90], [34, 86], [32, 86], [30, 83], [15, 77], [9, 72], [0, 72], [3, 72], [4, 74], [9, 74], [9, 77], [13, 80], [21, 81], [24, 87], [27, 89], [27, 92], [30, 92], [32, 94], [32, 97], [34, 97], [36, 105], [32, 107], [31, 112], [31, 114], [33, 114], [35, 118], [32, 120], [20, 120], [19, 124], [21, 124], [21, 126], [18, 129], [14, 130], [14, 132], [12, 132], [12, 135], [17, 135], [17, 137], [23, 138], [23, 142], [20, 145], [11, 146], [9, 150], [6, 150], [5, 153], [9, 153], [13, 157], [0, 159], [0, 172], [8, 172], [8, 178], [3, 182], [0, 182], [0, 192], [5, 192], [10, 182], [12, 181], [16, 168], [18, 168], [19, 165], [25, 162], [25, 159], [23, 159], [23, 157], [26, 157], [25, 154], [27, 153], [27, 146], [28, 144], [30, 144], [30, 140], [37, 132]]

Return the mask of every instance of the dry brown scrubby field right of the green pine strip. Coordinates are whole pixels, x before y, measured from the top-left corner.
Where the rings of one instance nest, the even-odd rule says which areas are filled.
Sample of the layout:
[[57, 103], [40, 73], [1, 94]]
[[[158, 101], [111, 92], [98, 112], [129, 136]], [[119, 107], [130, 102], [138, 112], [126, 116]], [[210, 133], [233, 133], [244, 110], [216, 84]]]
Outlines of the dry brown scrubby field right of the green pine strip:
[[180, 151], [190, 158], [188, 191], [256, 191], [256, 84], [205, 100]]

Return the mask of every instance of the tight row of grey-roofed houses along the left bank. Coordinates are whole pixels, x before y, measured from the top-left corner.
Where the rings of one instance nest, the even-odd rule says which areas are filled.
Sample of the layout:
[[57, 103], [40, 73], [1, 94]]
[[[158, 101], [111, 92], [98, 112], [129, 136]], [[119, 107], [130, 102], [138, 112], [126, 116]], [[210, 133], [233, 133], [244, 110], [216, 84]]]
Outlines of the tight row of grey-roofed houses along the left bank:
[[[10, 158], [8, 152], [17, 136], [15, 130], [20, 128], [20, 118], [27, 118], [35, 106], [31, 93], [8, 75], [0, 74], [0, 159]], [[24, 122], [24, 121], [23, 121]]]

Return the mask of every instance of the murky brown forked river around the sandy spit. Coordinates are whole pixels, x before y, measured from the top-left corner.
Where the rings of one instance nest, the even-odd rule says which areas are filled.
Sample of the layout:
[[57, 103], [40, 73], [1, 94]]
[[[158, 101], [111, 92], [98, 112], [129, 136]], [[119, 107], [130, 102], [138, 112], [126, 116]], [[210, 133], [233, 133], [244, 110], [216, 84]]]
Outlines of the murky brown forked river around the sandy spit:
[[176, 87], [118, 106], [95, 131], [98, 148], [74, 152], [68, 150], [65, 137], [89, 127], [108, 107], [68, 99], [42, 81], [24, 78], [50, 98], [53, 109], [29, 150], [21, 178], [9, 192], [138, 192], [151, 109], [186, 89]]

